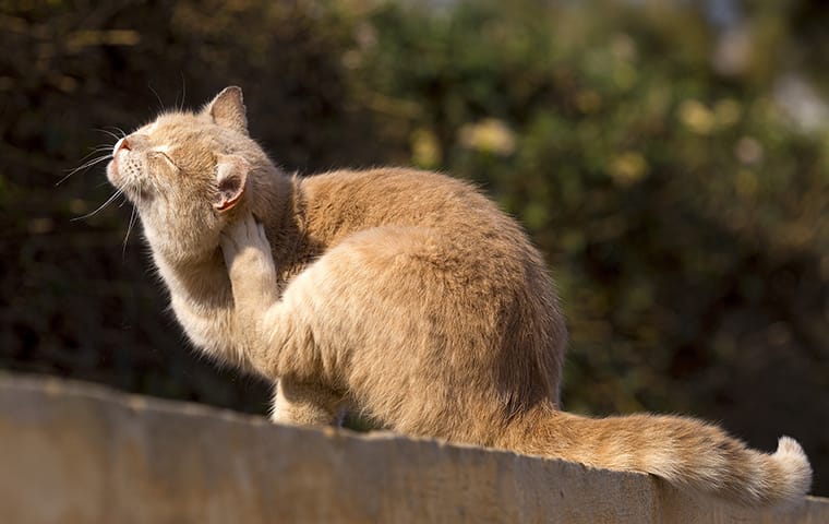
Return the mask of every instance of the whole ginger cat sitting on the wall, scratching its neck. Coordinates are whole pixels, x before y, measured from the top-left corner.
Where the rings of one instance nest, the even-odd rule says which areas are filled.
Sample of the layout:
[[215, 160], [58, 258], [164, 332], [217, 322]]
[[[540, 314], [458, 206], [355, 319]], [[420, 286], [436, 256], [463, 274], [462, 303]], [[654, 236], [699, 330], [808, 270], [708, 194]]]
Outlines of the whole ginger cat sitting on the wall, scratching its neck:
[[567, 341], [544, 261], [470, 184], [401, 168], [290, 177], [249, 136], [239, 87], [115, 145], [192, 343], [276, 384], [272, 419], [358, 409], [411, 436], [652, 474], [741, 504], [791, 502], [788, 437], [745, 446], [693, 418], [560, 406]]

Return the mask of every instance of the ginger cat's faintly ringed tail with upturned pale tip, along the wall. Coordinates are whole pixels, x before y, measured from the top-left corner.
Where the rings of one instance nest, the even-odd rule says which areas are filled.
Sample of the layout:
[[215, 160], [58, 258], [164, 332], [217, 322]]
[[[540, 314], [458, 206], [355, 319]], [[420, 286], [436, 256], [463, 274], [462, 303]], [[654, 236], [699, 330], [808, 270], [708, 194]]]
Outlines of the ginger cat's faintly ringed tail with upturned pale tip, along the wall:
[[812, 467], [794, 439], [782, 437], [777, 452], [762, 453], [692, 418], [587, 418], [544, 407], [514, 419], [504, 437], [504, 448], [518, 452], [647, 473], [746, 505], [791, 502], [812, 486]]

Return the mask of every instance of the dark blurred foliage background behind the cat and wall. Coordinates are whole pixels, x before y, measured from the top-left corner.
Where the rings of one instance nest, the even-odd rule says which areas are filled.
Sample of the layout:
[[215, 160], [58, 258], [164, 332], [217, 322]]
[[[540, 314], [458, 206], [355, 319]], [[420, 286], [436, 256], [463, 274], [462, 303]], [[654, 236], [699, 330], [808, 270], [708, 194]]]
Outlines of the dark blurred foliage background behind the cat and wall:
[[565, 406], [798, 439], [829, 495], [819, 1], [0, 1], [0, 367], [265, 413], [189, 347], [104, 163], [244, 88], [287, 169], [473, 180], [546, 254]]

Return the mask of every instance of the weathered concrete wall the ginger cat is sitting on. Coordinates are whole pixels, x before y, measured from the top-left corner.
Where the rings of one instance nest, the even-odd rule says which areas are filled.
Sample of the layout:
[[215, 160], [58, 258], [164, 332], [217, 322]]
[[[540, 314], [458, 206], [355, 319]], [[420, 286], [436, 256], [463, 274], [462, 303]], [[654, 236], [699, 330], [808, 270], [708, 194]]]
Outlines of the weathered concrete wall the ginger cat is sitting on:
[[829, 523], [644, 475], [0, 374], [0, 522]]

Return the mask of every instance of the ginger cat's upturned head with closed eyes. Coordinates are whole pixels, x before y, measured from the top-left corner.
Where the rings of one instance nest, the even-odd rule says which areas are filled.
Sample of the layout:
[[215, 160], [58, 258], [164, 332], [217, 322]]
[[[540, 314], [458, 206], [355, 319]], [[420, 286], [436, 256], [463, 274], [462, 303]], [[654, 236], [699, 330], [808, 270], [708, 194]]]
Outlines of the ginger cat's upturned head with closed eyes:
[[242, 90], [227, 87], [199, 112], [166, 112], [119, 140], [107, 178], [133, 202], [154, 251], [199, 259], [215, 251], [250, 186], [273, 177], [248, 135]]

